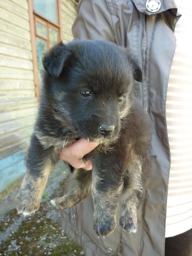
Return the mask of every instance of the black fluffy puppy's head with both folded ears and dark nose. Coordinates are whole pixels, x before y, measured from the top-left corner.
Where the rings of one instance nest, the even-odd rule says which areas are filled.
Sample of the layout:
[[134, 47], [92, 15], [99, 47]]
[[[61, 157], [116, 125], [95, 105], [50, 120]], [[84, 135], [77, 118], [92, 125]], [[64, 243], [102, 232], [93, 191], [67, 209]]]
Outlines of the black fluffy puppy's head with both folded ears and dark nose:
[[132, 104], [133, 79], [142, 73], [127, 50], [113, 43], [73, 40], [43, 58], [44, 93], [55, 116], [99, 143], [117, 139]]

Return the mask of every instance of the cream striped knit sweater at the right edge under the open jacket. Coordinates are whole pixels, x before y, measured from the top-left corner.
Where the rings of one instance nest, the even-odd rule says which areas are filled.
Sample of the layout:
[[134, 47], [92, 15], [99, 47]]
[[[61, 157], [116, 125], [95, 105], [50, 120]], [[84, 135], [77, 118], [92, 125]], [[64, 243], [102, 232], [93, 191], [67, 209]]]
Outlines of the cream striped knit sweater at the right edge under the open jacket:
[[182, 14], [166, 99], [171, 153], [165, 236], [192, 228], [192, 2], [175, 0]]

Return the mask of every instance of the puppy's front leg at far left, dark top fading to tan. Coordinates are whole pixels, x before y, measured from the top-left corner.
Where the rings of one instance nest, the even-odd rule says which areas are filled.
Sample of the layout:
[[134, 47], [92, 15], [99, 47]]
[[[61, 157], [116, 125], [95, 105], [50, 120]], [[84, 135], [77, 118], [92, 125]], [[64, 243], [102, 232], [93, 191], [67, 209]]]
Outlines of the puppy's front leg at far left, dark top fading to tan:
[[39, 209], [49, 173], [56, 161], [53, 148], [44, 149], [33, 134], [26, 158], [26, 175], [15, 199], [18, 213], [29, 215]]

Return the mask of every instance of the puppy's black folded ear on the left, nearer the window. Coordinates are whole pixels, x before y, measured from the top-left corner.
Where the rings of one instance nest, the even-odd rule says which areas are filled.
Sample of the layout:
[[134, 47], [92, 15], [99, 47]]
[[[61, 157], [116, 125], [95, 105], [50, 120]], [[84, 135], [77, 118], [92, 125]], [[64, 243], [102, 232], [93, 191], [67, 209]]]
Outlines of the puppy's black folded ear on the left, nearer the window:
[[52, 76], [59, 77], [71, 54], [72, 50], [67, 45], [58, 43], [44, 54], [42, 63], [45, 70]]

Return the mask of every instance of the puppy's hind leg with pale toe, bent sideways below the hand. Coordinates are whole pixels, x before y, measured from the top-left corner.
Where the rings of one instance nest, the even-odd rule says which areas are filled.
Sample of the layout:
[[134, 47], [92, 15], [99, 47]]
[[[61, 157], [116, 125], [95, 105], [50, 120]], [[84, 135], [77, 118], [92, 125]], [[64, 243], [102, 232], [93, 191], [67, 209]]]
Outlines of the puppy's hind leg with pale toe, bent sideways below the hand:
[[70, 208], [91, 195], [92, 172], [84, 169], [75, 169], [73, 173], [73, 187], [62, 197], [51, 200], [58, 209]]

